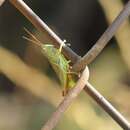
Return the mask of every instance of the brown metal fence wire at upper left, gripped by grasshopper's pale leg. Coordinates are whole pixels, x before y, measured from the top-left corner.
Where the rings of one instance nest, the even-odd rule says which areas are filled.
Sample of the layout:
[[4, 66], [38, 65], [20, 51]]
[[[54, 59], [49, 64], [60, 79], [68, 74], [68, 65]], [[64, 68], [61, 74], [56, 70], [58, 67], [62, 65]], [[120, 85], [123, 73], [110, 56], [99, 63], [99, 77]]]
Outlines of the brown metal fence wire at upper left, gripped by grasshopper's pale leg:
[[[42, 34], [46, 35], [48, 39], [52, 40], [51, 44], [60, 47], [64, 42], [37, 16], [31, 8], [29, 8], [23, 0], [9, 0]], [[75, 63], [80, 56], [78, 56], [69, 47], [63, 46], [63, 54]]]

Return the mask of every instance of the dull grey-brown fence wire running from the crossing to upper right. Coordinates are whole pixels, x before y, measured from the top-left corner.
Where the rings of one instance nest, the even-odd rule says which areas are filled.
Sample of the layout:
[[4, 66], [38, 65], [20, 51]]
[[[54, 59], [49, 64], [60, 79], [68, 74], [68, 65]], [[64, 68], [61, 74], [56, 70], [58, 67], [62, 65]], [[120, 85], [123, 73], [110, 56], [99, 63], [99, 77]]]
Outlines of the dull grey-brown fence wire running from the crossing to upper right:
[[116, 33], [117, 29], [120, 25], [128, 18], [130, 15], [130, 0], [124, 7], [124, 9], [120, 12], [117, 18], [113, 21], [113, 23], [107, 28], [107, 30], [103, 33], [103, 35], [99, 38], [96, 44], [90, 49], [90, 51], [79, 61], [74, 64], [73, 70], [80, 71], [84, 69], [84, 67], [91, 63], [103, 50], [103, 48], [107, 45], [107, 43], [111, 40], [113, 35]]

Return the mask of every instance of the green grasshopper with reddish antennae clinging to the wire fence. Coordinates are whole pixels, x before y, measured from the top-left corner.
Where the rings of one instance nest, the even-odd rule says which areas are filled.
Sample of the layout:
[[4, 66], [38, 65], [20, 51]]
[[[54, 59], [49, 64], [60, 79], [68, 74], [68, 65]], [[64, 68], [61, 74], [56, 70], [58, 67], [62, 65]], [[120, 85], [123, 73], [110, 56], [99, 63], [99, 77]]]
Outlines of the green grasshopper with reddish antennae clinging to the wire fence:
[[31, 36], [32, 39], [27, 37], [23, 38], [35, 43], [41, 48], [43, 55], [48, 59], [52, 68], [56, 72], [61, 85], [64, 87], [62, 95], [65, 96], [68, 91], [74, 87], [76, 81], [73, 74], [77, 75], [77, 73], [71, 72], [71, 67], [69, 65], [70, 61], [68, 61], [61, 53], [63, 44], [59, 49], [55, 48], [52, 44], [42, 44], [31, 32], [27, 29], [25, 29], [25, 31]]

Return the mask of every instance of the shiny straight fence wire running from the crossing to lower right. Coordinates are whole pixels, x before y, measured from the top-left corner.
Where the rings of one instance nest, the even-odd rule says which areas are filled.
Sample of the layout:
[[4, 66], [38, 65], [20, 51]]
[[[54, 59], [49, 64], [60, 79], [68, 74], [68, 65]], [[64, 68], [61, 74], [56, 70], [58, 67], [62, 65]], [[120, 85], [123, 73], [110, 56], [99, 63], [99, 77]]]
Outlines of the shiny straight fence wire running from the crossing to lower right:
[[84, 89], [124, 130], [130, 130], [130, 123], [89, 82]]

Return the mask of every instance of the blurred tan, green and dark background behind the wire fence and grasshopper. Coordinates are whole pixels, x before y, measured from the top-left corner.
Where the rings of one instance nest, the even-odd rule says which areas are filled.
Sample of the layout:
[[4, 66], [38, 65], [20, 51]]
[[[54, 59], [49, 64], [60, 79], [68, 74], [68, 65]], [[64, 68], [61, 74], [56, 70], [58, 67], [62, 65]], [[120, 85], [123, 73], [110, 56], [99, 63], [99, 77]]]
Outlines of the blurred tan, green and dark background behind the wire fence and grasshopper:
[[[119, 14], [126, 0], [25, 0], [61, 39], [83, 56]], [[114, 8], [113, 8], [114, 5]], [[63, 99], [62, 88], [24, 27], [49, 42], [6, 1], [0, 7], [0, 130], [40, 130]], [[130, 23], [126, 20], [89, 65], [90, 83], [130, 120]], [[85, 92], [55, 130], [121, 130]]]

